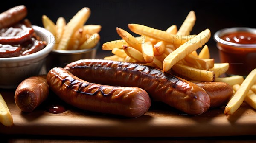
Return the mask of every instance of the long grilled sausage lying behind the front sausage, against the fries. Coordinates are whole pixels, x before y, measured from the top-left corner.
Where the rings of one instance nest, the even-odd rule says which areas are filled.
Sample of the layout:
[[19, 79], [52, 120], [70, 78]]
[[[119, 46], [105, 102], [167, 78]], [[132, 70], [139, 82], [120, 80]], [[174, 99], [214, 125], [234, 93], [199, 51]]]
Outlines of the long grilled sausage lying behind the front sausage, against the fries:
[[65, 69], [89, 82], [142, 88], [152, 101], [162, 101], [190, 115], [200, 115], [209, 109], [209, 96], [201, 87], [153, 67], [84, 59], [68, 64]]

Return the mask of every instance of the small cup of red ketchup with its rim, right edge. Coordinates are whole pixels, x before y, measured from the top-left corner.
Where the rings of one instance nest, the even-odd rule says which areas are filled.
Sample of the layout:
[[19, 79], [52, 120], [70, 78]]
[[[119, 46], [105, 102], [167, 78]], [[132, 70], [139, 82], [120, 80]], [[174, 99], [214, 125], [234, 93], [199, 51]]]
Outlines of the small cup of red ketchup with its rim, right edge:
[[247, 76], [256, 68], [256, 29], [235, 27], [214, 34], [220, 60], [230, 64], [228, 75]]

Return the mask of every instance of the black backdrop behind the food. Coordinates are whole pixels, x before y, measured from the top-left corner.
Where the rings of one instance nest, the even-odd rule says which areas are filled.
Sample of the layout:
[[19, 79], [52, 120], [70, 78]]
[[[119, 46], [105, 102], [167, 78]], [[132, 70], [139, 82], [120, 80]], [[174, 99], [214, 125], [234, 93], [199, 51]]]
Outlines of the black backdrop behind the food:
[[[101, 44], [120, 39], [116, 34], [116, 27], [131, 32], [127, 27], [128, 23], [164, 31], [171, 25], [179, 28], [191, 10], [195, 11], [197, 17], [191, 34], [198, 34], [209, 28], [213, 37], [222, 28], [256, 27], [253, 22], [255, 7], [249, 0], [5, 0], [0, 4], [0, 11], [21, 4], [28, 8], [27, 18], [38, 26], [42, 26], [43, 14], [53, 22], [58, 17], [64, 17], [68, 22], [81, 8], [89, 7], [91, 16], [86, 24], [102, 25], [99, 33]], [[218, 55], [213, 38], [207, 45], [212, 54]], [[99, 49], [97, 55], [102, 58], [111, 55], [111, 52]]]

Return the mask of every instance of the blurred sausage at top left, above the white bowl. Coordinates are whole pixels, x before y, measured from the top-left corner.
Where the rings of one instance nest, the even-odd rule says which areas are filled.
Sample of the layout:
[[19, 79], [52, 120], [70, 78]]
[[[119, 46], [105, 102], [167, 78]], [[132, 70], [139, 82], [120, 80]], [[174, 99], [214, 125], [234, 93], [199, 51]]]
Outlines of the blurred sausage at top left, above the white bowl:
[[27, 8], [24, 5], [15, 6], [0, 14], [0, 29], [7, 28], [19, 22], [27, 15]]

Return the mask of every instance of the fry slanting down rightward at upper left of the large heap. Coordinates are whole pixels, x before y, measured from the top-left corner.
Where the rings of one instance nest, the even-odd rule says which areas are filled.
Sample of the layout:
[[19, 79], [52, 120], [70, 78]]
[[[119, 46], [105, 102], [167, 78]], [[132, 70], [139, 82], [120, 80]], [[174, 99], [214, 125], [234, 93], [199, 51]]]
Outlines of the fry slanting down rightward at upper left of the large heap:
[[135, 48], [140, 52], [142, 51], [141, 43], [134, 36], [132, 36], [127, 31], [118, 27], [116, 28], [116, 32], [122, 39], [124, 39], [129, 45], [131, 45], [131, 47]]

